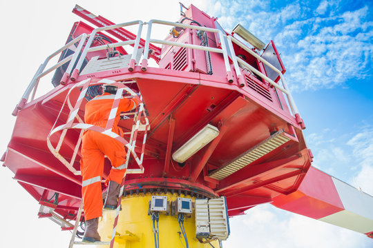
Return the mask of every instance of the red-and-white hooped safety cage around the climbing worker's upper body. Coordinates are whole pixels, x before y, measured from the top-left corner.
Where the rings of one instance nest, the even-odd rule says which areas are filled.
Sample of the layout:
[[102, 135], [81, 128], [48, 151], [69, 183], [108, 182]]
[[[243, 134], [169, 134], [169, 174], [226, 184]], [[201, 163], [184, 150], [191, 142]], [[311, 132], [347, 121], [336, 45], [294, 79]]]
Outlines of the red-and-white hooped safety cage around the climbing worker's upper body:
[[[80, 118], [78, 112], [82, 105], [82, 101], [84, 99], [84, 96], [86, 95], [86, 92], [88, 90], [89, 86], [92, 85], [102, 85], [102, 84], [111, 84], [118, 87], [117, 94], [115, 94], [115, 99], [113, 101], [113, 106], [111, 109], [111, 112], [108, 117], [108, 122], [106, 123], [106, 127], [98, 127], [95, 125], [90, 125], [84, 123], [82, 118]], [[82, 91], [79, 94], [79, 97], [76, 101], [76, 103], [73, 105], [70, 102], [70, 93], [73, 92], [73, 90], [77, 90], [77, 88], [81, 88]], [[115, 132], [113, 132], [113, 123], [115, 121], [115, 113], [117, 112], [117, 107], [119, 105], [119, 100], [122, 98], [122, 93], [128, 92], [131, 94], [131, 96], [136, 96], [135, 92], [131, 90], [129, 87], [124, 86], [122, 83], [117, 83], [112, 80], [108, 79], [101, 79], [99, 81], [93, 81], [93, 79], [86, 79], [82, 82], [76, 83], [73, 85], [73, 87], [70, 88], [68, 91], [68, 94], [66, 94], [66, 98], [64, 101], [64, 104], [61, 106], [61, 110], [59, 111], [59, 114], [56, 118], [55, 124], [52, 126], [52, 129], [50, 130], [50, 133], [47, 136], [47, 145], [50, 152], [59, 160], [62, 164], [64, 164], [70, 172], [73, 172], [75, 175], [80, 175], [81, 172], [77, 171], [77, 169], [74, 168], [75, 158], [77, 156], [77, 152], [79, 151], [80, 144], [82, 143], [82, 135], [84, 133], [84, 130], [92, 130], [95, 132], [99, 132], [101, 134], [104, 134], [106, 136], [110, 136], [111, 138], [114, 138], [115, 140], [122, 143], [127, 149], [127, 157], [126, 157], [126, 164], [124, 165], [124, 168], [126, 169], [128, 166], [129, 161], [129, 155], [132, 154], [133, 158], [135, 158], [135, 161], [137, 165], [139, 165], [140, 169], [128, 169], [127, 173], [129, 174], [136, 174], [136, 173], [143, 173], [144, 167], [142, 166], [142, 161], [144, 160], [144, 152], [145, 152], [145, 143], [146, 143], [146, 134], [149, 130], [149, 120], [146, 116], [145, 110], [144, 110], [144, 103], [140, 103], [137, 106], [137, 109], [135, 111], [135, 114], [133, 116], [133, 126], [131, 129], [131, 137], [130, 141], [126, 141], [122, 136], [119, 136]], [[70, 113], [68, 114], [68, 119], [66, 123], [59, 125], [57, 127], [56, 124], [59, 121], [59, 116], [61, 115], [61, 112], [64, 110], [65, 104], [68, 105], [68, 108], [70, 110]], [[140, 119], [144, 121], [144, 123], [140, 123]], [[77, 122], [75, 122], [77, 120]], [[142, 126], [140, 128], [140, 125]], [[80, 130], [79, 138], [77, 140], [77, 143], [75, 145], [73, 154], [70, 156], [70, 161], [68, 161], [62, 154], [60, 154], [60, 149], [62, 144], [64, 143], [64, 138], [66, 136], [66, 132], [68, 130]], [[55, 134], [60, 132], [57, 145], [53, 145], [51, 138]], [[141, 148], [141, 154], [140, 156], [137, 155], [135, 152], [136, 147], [136, 141], [137, 141], [137, 134], [138, 132], [144, 132], [143, 141], [142, 141], [142, 148]]]

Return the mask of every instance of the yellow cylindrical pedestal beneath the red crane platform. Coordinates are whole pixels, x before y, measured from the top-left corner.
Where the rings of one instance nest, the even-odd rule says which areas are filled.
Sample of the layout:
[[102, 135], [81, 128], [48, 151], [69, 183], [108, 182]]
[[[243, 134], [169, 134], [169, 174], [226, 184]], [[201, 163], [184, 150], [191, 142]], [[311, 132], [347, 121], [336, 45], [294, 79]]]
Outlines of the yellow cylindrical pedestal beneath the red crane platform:
[[[155, 194], [153, 194], [155, 195]], [[176, 200], [178, 197], [191, 198], [191, 196], [183, 196], [177, 194], [159, 194], [167, 196], [167, 200]], [[117, 224], [117, 235], [115, 236], [115, 248], [144, 248], [155, 247], [153, 222], [151, 216], [148, 215], [149, 200], [152, 194], [135, 194], [126, 196], [122, 199], [122, 210], [119, 212], [119, 220]], [[194, 200], [194, 198], [192, 198]], [[99, 220], [99, 234], [102, 241], [110, 241], [113, 231], [113, 223], [115, 219], [115, 211], [104, 211], [102, 218]], [[167, 216], [160, 214], [158, 223], [160, 248], [186, 247], [184, 236], [178, 223], [177, 216]], [[202, 244], [195, 238], [195, 216], [185, 218], [184, 229], [187, 233], [189, 247], [213, 247], [218, 248], [217, 240], [209, 244]], [[103, 247], [102, 245], [96, 247]]]

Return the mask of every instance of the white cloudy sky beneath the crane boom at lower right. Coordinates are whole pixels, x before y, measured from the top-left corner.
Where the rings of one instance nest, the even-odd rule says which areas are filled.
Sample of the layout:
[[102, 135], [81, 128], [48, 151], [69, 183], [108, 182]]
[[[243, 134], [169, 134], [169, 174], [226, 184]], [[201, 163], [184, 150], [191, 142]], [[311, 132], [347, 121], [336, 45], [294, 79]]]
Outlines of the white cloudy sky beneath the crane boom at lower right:
[[[367, 247], [362, 234], [312, 218], [259, 205], [245, 216], [230, 218], [231, 236], [224, 248], [236, 247]], [[245, 246], [242, 246], [245, 244]]]

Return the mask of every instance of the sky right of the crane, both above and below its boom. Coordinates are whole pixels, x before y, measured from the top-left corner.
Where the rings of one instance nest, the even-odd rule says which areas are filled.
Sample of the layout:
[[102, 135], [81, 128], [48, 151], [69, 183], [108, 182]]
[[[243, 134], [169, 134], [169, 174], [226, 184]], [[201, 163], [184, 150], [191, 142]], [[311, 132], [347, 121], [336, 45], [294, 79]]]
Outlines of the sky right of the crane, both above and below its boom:
[[[224, 28], [241, 23], [265, 43], [274, 40], [307, 126], [313, 166], [371, 195], [372, 7], [372, 1], [215, 1], [212, 7]], [[231, 223], [241, 228], [229, 247], [239, 247], [249, 232], [254, 247], [373, 247], [352, 231], [269, 205]]]

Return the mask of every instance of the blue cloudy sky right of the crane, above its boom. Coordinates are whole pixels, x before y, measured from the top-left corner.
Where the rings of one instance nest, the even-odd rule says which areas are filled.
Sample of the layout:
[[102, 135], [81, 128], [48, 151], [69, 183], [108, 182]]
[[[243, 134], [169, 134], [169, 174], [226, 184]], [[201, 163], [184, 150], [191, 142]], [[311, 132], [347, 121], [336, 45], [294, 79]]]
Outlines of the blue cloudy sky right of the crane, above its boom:
[[[373, 132], [372, 7], [372, 1], [215, 1], [211, 6], [224, 28], [241, 23], [265, 43], [274, 40], [307, 126], [314, 166], [349, 183], [365, 165], [356, 146], [372, 144], [359, 135]], [[373, 183], [356, 183], [373, 191]]]

